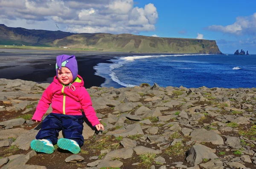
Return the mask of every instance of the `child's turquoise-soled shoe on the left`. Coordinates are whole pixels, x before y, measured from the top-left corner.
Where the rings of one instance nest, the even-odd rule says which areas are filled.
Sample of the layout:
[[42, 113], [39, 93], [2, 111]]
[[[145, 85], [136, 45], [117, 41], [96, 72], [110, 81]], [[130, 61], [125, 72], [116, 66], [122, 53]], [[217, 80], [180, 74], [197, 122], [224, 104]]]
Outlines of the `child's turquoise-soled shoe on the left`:
[[54, 152], [55, 150], [52, 142], [46, 139], [32, 140], [30, 143], [30, 147], [36, 152], [44, 152], [47, 154], [52, 154], [52, 152]]

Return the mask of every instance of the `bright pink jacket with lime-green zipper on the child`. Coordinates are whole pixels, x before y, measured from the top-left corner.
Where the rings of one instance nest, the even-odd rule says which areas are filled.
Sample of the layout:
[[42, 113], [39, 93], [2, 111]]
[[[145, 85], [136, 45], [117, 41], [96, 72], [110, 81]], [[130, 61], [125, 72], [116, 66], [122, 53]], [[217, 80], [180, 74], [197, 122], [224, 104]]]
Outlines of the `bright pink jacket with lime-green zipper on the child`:
[[53, 82], [44, 91], [32, 120], [41, 121], [50, 104], [52, 104], [52, 113], [82, 115], [82, 109], [92, 126], [99, 124], [92, 107], [90, 95], [84, 87], [83, 79], [79, 75], [71, 86], [62, 85], [57, 76], [55, 76]]

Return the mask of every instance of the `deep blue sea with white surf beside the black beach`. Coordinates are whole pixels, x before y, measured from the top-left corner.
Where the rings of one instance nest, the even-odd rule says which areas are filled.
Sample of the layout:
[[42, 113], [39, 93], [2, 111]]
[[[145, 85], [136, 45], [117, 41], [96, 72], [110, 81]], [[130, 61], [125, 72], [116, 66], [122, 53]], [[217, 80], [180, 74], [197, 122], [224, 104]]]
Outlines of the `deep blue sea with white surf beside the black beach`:
[[106, 79], [102, 87], [256, 87], [256, 55], [148, 54], [109, 61], [94, 67]]

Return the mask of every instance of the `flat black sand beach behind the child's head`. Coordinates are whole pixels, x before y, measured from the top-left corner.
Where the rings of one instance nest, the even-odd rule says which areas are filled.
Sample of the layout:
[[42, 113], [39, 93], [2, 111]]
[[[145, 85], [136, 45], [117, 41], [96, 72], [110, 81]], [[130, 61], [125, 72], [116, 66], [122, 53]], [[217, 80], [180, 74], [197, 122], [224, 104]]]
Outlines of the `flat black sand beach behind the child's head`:
[[105, 79], [95, 75], [93, 66], [109, 63], [116, 56], [127, 56], [124, 52], [102, 51], [41, 51], [0, 49], [0, 78], [22, 79], [38, 83], [51, 83], [56, 75], [56, 56], [75, 55], [79, 75], [84, 79], [84, 87], [100, 86]]

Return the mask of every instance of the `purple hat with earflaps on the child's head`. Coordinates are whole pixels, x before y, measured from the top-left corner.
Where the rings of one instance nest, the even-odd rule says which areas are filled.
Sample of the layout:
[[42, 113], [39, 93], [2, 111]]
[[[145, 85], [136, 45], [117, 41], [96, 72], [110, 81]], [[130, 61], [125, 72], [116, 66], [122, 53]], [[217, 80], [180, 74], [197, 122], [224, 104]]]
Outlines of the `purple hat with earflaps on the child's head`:
[[56, 75], [58, 77], [58, 69], [61, 70], [61, 67], [66, 67], [69, 68], [73, 75], [73, 80], [76, 79], [77, 73], [78, 73], [78, 68], [77, 68], [77, 61], [76, 61], [76, 56], [72, 55], [59, 55], [56, 57]]

